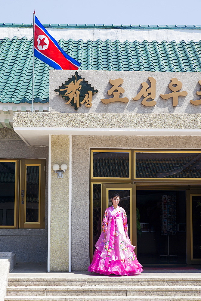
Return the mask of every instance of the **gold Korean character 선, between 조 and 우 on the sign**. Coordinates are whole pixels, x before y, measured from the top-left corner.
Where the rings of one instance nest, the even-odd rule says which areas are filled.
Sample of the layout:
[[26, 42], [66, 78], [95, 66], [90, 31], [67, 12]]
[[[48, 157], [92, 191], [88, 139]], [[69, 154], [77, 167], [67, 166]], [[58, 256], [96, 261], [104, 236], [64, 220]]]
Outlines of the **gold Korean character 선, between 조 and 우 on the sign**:
[[148, 77], [148, 79], [151, 84], [150, 88], [147, 82], [141, 82], [142, 88], [140, 92], [135, 97], [132, 97], [132, 99], [139, 100], [142, 96], [144, 96], [144, 99], [142, 100], [141, 104], [143, 104], [144, 106], [155, 106], [155, 100], [147, 101], [147, 99], [154, 99], [156, 97], [156, 79], [153, 77]]

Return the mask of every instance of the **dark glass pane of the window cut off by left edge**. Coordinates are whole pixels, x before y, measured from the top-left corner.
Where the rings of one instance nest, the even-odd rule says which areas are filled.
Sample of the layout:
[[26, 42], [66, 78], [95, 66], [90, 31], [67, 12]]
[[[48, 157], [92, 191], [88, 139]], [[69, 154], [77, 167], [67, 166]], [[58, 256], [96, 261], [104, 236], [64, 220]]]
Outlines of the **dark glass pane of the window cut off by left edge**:
[[0, 162], [0, 226], [14, 226], [15, 162]]

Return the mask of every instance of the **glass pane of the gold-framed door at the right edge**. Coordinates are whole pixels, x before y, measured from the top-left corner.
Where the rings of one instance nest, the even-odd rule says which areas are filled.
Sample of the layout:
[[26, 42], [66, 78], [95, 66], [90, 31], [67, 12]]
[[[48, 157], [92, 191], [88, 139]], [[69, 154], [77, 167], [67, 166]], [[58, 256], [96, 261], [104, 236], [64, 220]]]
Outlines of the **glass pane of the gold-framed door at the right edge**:
[[193, 259], [201, 258], [201, 195], [192, 195]]

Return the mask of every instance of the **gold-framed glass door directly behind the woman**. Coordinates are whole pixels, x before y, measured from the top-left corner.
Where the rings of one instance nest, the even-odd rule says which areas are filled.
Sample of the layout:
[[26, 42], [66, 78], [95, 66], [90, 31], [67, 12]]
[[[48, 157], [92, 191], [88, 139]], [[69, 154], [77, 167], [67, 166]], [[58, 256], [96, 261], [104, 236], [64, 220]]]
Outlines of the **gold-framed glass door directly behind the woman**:
[[[128, 236], [131, 244], [137, 246], [136, 237], [136, 184], [103, 184], [102, 188], [102, 210], [104, 215], [105, 209], [112, 206], [111, 197], [114, 193], [119, 193], [121, 200], [119, 206], [125, 209], [128, 220]], [[101, 216], [101, 217], [102, 217]], [[136, 248], [135, 248], [136, 253]]]

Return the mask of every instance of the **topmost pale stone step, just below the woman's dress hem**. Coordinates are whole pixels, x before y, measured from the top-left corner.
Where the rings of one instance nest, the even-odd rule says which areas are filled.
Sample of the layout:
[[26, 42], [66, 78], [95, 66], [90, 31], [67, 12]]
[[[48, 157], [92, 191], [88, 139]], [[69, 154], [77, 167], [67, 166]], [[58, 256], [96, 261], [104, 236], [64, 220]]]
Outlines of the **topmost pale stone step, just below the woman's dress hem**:
[[190, 285], [200, 285], [201, 277], [142, 277], [142, 276], [133, 276], [133, 277], [105, 277], [105, 276], [94, 276], [86, 278], [32, 278], [32, 277], [9, 277], [8, 285], [9, 286], [190, 286]]

